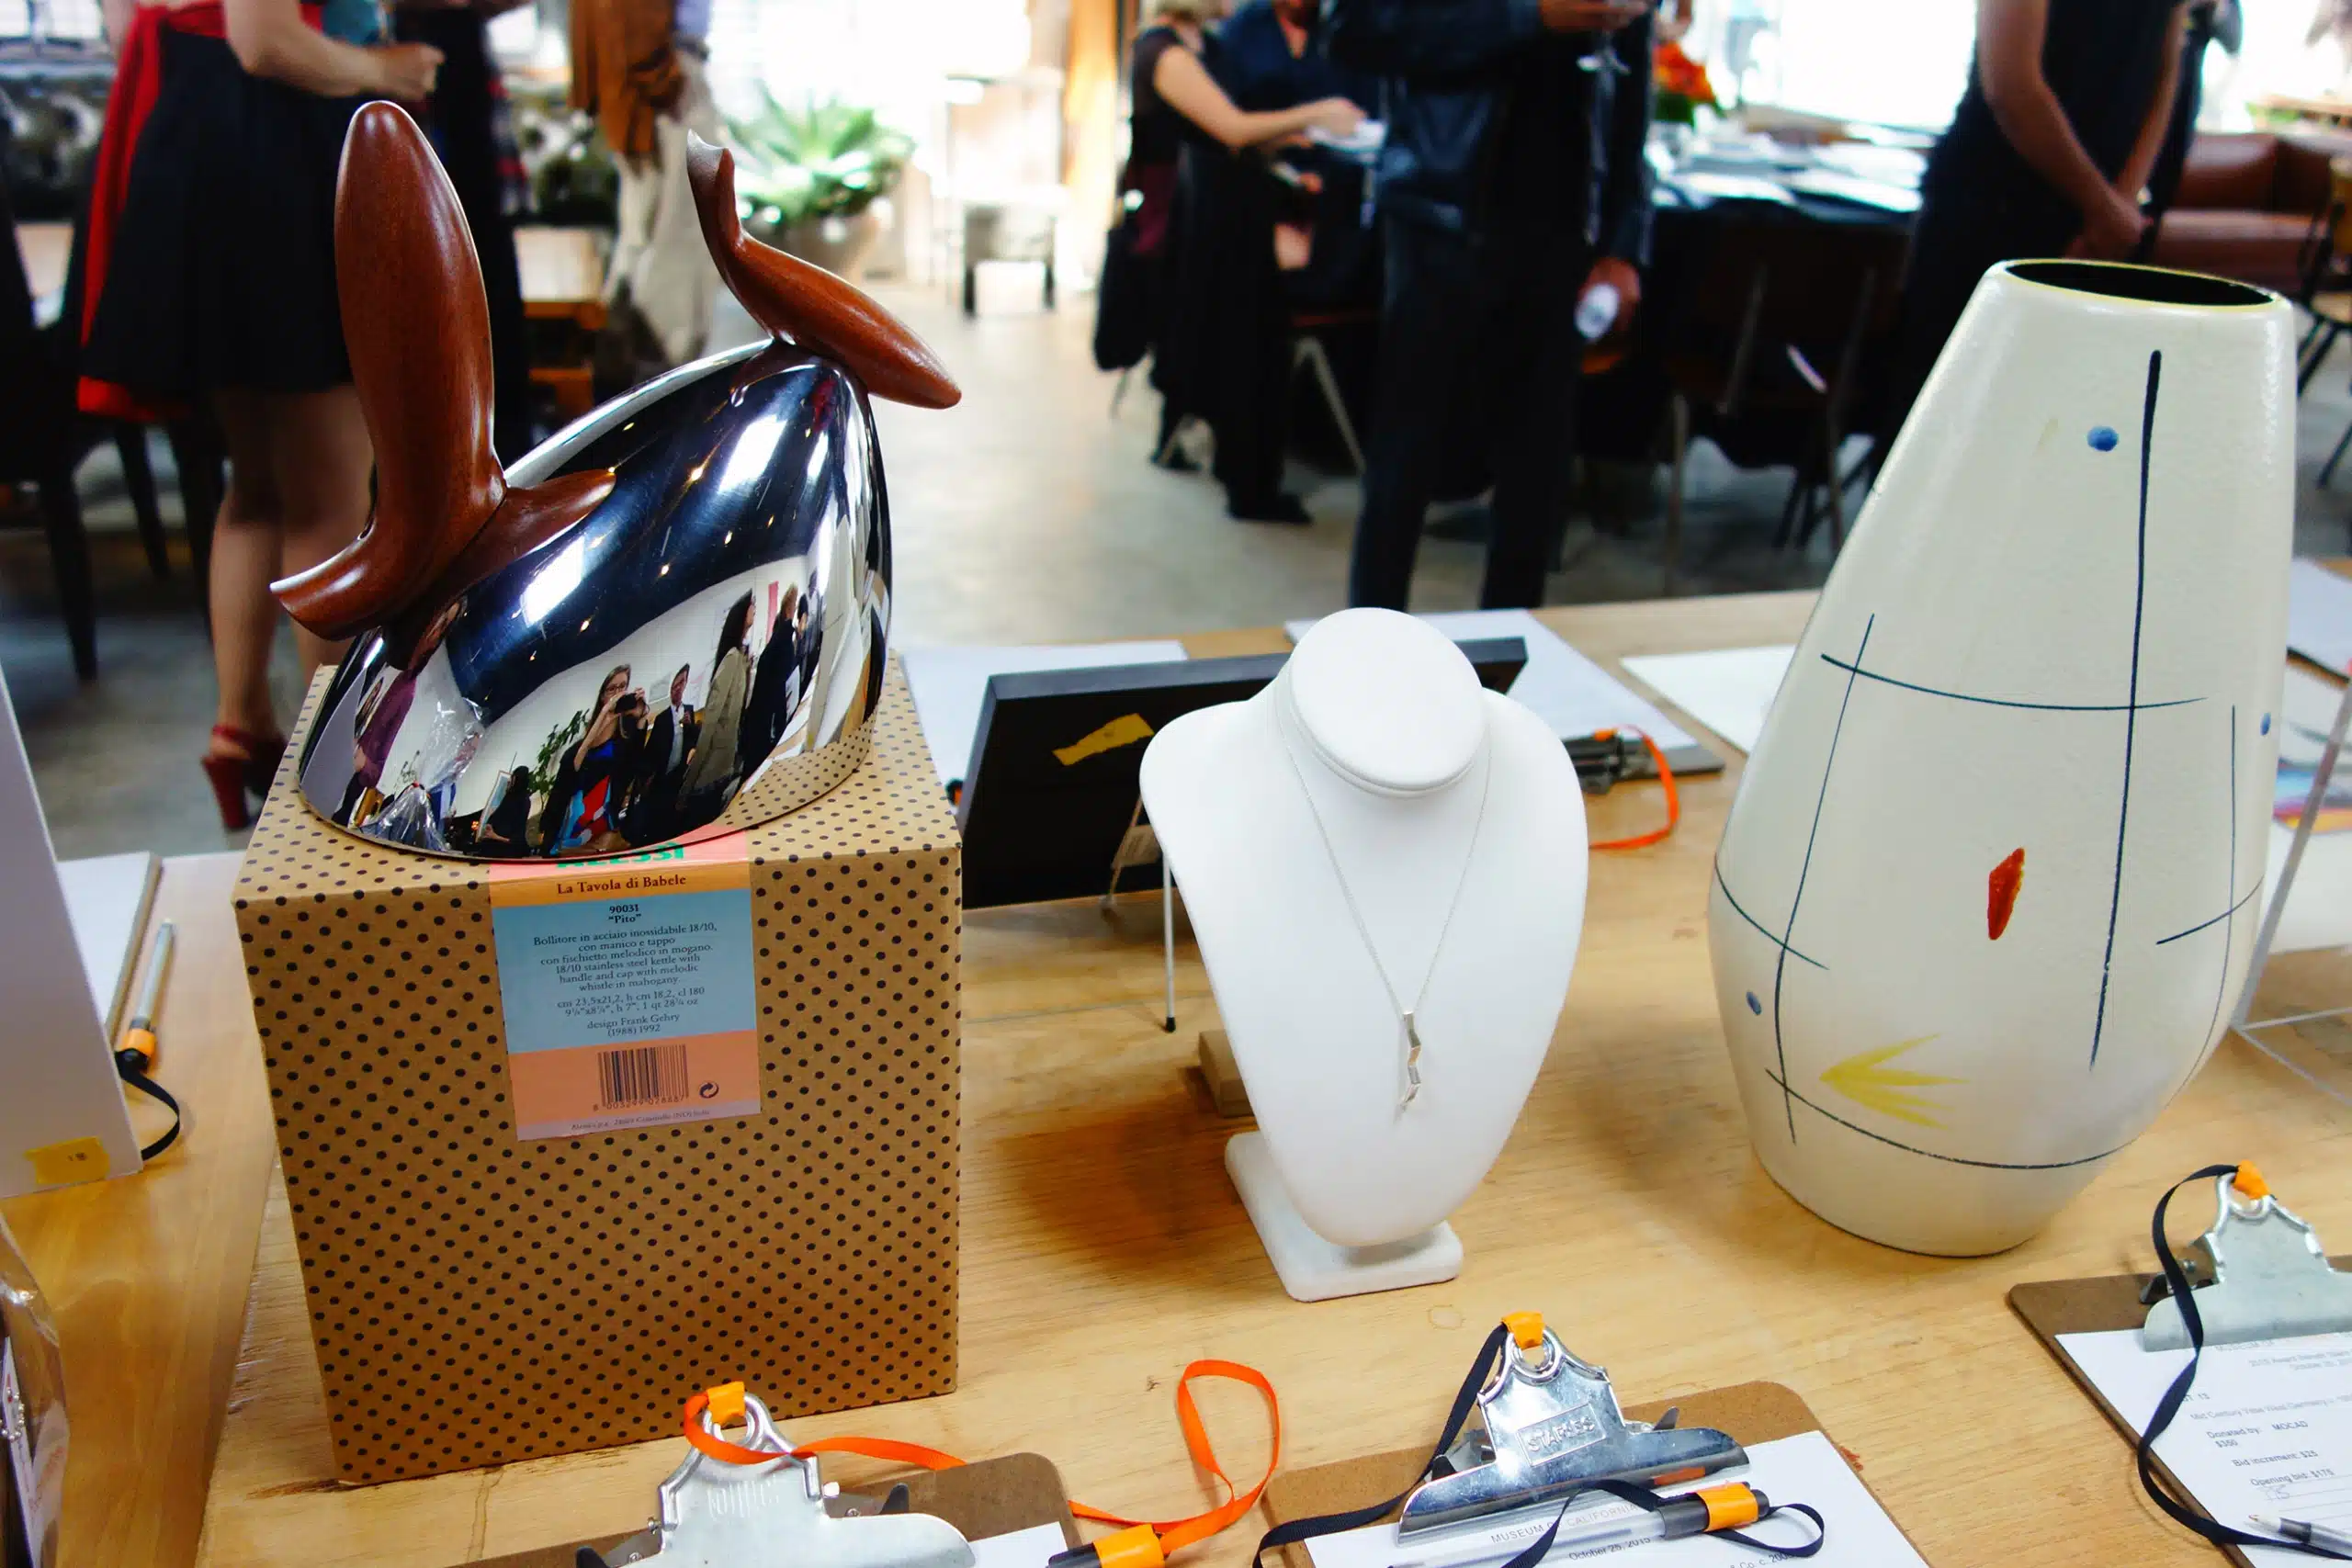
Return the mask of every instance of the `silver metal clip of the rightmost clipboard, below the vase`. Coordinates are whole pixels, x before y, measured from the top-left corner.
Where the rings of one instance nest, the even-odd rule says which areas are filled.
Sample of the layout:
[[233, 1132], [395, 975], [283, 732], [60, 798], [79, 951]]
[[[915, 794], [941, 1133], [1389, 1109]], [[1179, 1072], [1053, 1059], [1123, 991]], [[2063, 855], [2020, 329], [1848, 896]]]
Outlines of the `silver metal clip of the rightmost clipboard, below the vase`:
[[[2211, 1284], [2197, 1286], [2206, 1345], [2352, 1333], [2352, 1274], [2328, 1262], [2319, 1237], [2274, 1194], [2244, 1199], [2230, 1175], [2213, 1178], [2213, 1227], [2185, 1265]], [[2194, 1269], [2194, 1265], [2204, 1265]], [[2140, 1349], [2187, 1349], [2180, 1302], [2164, 1295], [2147, 1309]]]

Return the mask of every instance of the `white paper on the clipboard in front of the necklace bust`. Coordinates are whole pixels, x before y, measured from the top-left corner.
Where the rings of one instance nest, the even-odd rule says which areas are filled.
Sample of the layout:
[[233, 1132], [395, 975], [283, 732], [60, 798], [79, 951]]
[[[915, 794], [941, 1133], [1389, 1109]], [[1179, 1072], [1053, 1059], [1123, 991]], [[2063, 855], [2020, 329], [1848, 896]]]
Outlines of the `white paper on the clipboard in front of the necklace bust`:
[[[1846, 1467], [1844, 1455], [1837, 1446], [1820, 1432], [1799, 1432], [1797, 1436], [1783, 1436], [1771, 1443], [1757, 1443], [1748, 1450], [1748, 1465], [1736, 1469], [1722, 1469], [1703, 1481], [1691, 1481], [1686, 1486], [1665, 1486], [1661, 1493], [1679, 1495], [1698, 1490], [1700, 1486], [1724, 1486], [1729, 1481], [1745, 1481], [1773, 1502], [1806, 1502], [1820, 1509], [1828, 1521], [1828, 1540], [1823, 1542], [1820, 1556], [1806, 1559], [1813, 1568], [1926, 1568], [1912, 1544], [1903, 1540], [1903, 1530], [1896, 1521], [1886, 1516], [1886, 1509], [1877, 1505], [1870, 1488]], [[1569, 1514], [1562, 1523], [1562, 1535], [1573, 1526], [1618, 1519], [1632, 1514], [1630, 1502], [1602, 1502], [1590, 1509], [1578, 1509]], [[1543, 1528], [1536, 1521], [1536, 1530]], [[1811, 1535], [1811, 1526], [1797, 1519], [1773, 1519], [1771, 1523], [1757, 1526], [1755, 1537], [1769, 1540], [1773, 1544], [1799, 1544]], [[1449, 1554], [1439, 1561], [1451, 1566], [1472, 1563], [1503, 1563], [1510, 1561], [1531, 1540], [1526, 1528], [1526, 1514], [1515, 1519], [1498, 1519], [1484, 1526], [1461, 1526], [1444, 1530], [1444, 1535], [1416, 1537], [1411, 1547], [1397, 1544], [1397, 1526], [1376, 1523], [1362, 1530], [1345, 1530], [1341, 1535], [1322, 1535], [1308, 1542], [1308, 1556], [1315, 1568], [1397, 1568], [1399, 1563], [1428, 1563], [1430, 1547], [1442, 1544]], [[1757, 1563], [1769, 1561], [1762, 1552], [1750, 1552], [1748, 1547], [1719, 1540], [1712, 1535], [1686, 1535], [1682, 1540], [1651, 1540], [1637, 1547], [1595, 1547], [1590, 1552], [1552, 1552], [1545, 1563], [1583, 1563], [1606, 1556], [1611, 1563], [1625, 1563], [1625, 1568], [1646, 1568], [1658, 1563], [1658, 1568], [1708, 1568], [1710, 1563]]]

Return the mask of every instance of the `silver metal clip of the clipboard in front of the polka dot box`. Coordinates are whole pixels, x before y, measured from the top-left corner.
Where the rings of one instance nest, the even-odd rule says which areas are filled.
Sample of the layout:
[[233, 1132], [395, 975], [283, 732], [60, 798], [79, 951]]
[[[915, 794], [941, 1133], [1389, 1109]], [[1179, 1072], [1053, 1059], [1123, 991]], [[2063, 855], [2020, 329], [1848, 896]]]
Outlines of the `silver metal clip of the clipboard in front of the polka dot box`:
[[[717, 1420], [703, 1413], [703, 1429]], [[769, 1465], [727, 1465], [689, 1450], [661, 1483], [661, 1514], [579, 1568], [971, 1568], [971, 1542], [946, 1519], [908, 1514], [906, 1488], [887, 1500], [847, 1497], [816, 1474], [816, 1458], [793, 1458], [757, 1396], [743, 1396], [743, 1448], [774, 1453]]]

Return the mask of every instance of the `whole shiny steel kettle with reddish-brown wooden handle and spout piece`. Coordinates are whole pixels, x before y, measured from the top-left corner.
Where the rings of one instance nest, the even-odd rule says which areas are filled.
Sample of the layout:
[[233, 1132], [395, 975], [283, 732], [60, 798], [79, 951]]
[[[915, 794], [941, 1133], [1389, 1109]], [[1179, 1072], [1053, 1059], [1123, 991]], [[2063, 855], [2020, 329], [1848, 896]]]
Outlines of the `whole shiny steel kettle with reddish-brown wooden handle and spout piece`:
[[336, 282], [376, 510], [275, 585], [353, 637], [301, 752], [308, 804], [473, 860], [609, 856], [769, 820], [863, 762], [889, 646], [868, 393], [960, 393], [882, 306], [743, 235], [691, 141], [720, 275], [769, 341], [659, 376], [501, 473], [473, 240], [416, 125], [358, 113]]

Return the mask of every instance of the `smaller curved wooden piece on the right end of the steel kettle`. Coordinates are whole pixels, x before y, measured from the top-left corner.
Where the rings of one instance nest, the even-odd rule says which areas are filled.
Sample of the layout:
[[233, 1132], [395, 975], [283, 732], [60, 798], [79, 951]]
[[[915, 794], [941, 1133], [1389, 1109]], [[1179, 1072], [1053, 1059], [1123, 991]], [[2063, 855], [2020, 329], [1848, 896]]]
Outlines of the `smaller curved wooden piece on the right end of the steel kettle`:
[[873, 397], [917, 409], [953, 409], [962, 402], [964, 393], [938, 355], [866, 289], [743, 233], [734, 197], [734, 153], [687, 132], [687, 181], [694, 186], [694, 212], [703, 221], [710, 261], [755, 322], [840, 360]]

